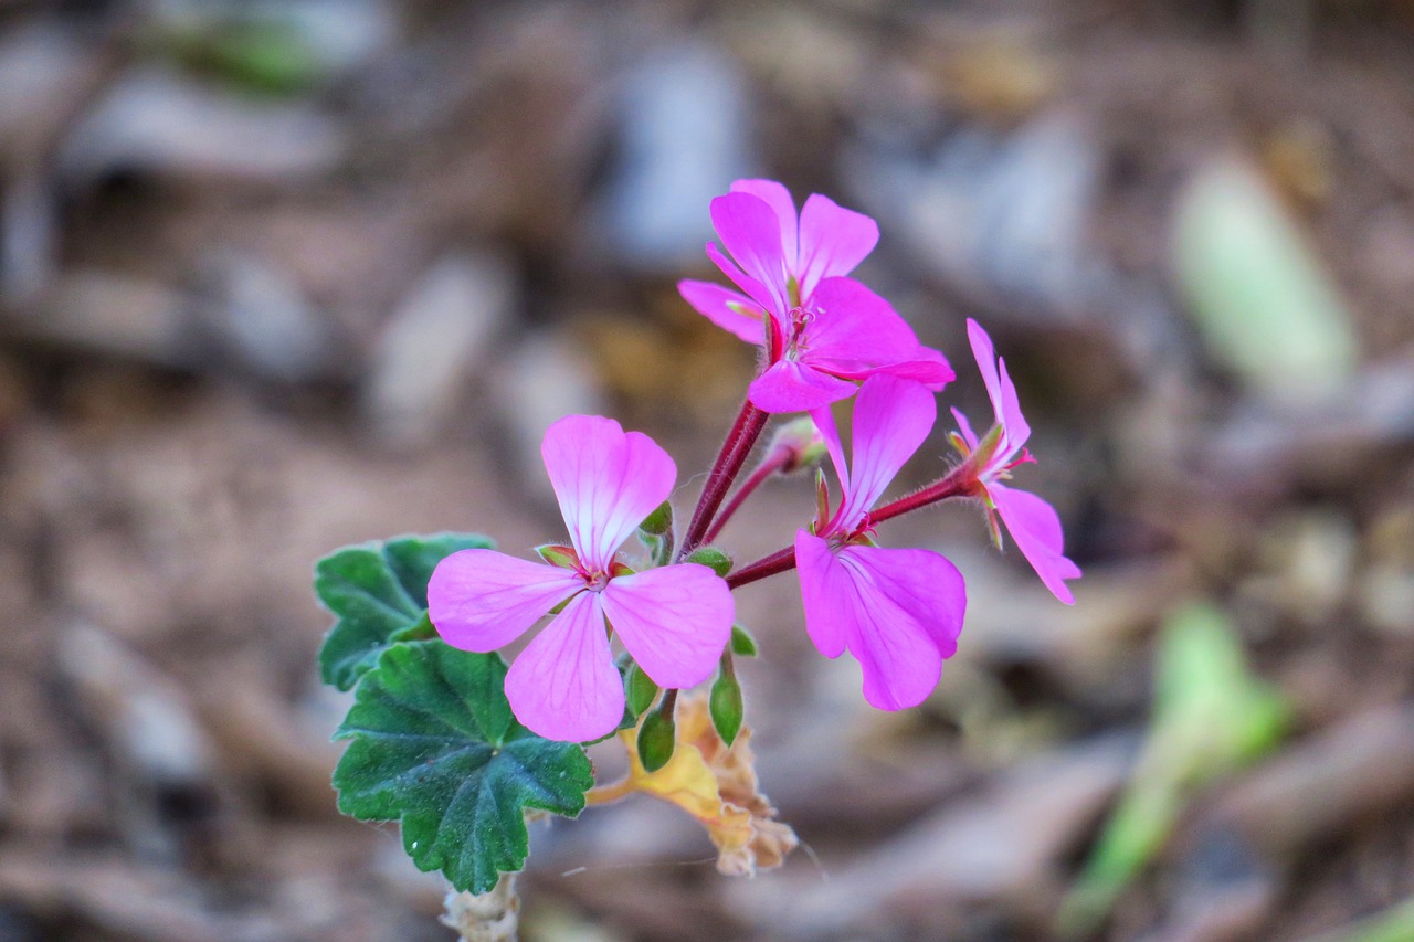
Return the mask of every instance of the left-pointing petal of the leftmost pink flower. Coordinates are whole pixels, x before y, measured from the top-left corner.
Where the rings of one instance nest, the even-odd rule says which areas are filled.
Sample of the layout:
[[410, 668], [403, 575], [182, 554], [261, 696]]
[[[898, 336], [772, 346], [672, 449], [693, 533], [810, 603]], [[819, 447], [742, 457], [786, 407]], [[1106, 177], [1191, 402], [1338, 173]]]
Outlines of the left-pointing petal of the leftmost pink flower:
[[452, 553], [427, 583], [427, 615], [452, 648], [495, 651], [584, 588], [566, 569], [488, 549]]

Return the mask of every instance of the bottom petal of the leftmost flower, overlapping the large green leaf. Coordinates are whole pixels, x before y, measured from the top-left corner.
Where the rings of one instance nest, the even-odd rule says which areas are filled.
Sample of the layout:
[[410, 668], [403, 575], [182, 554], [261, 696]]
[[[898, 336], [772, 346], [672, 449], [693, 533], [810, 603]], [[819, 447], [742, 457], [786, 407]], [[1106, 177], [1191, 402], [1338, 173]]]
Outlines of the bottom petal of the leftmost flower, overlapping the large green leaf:
[[597, 593], [570, 600], [506, 672], [510, 711], [547, 740], [584, 743], [624, 719], [624, 680], [614, 666]]

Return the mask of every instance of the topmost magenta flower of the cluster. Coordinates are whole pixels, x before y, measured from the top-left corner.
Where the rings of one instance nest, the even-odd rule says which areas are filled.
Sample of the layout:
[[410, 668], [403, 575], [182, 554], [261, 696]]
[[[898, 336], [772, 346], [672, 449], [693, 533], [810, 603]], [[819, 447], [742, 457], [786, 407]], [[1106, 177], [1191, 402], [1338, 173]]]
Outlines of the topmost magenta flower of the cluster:
[[741, 291], [682, 281], [683, 298], [748, 344], [766, 348], [766, 369], [751, 383], [764, 412], [806, 412], [851, 396], [877, 372], [942, 389], [947, 361], [922, 347], [888, 301], [854, 279], [878, 242], [868, 216], [813, 194], [799, 219], [789, 191], [773, 180], [738, 180], [711, 202], [713, 225], [735, 264], [715, 245], [707, 255]]

